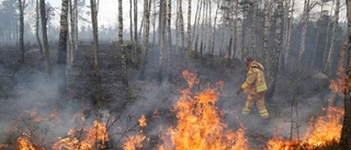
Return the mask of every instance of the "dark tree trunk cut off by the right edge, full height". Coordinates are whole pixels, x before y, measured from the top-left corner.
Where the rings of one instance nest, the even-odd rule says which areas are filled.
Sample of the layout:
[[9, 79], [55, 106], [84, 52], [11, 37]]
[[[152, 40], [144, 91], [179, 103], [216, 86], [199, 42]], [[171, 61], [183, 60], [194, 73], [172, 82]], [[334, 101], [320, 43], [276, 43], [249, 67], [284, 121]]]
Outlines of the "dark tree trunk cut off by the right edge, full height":
[[[348, 32], [349, 32], [349, 45], [351, 44], [351, 0], [347, 0], [347, 16], [348, 16]], [[341, 129], [340, 148], [341, 150], [351, 149], [351, 92], [350, 92], [350, 79], [351, 79], [351, 47], [348, 48], [348, 64], [347, 74], [344, 78], [344, 115], [343, 125]]]

